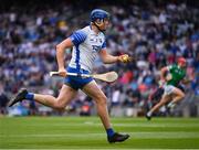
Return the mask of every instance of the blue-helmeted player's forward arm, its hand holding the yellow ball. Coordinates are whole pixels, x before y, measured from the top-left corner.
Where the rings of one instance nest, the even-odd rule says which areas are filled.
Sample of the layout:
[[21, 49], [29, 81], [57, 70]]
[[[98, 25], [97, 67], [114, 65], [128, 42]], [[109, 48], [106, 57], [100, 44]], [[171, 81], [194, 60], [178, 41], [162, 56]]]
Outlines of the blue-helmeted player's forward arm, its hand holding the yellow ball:
[[122, 63], [128, 63], [130, 62], [130, 57], [127, 54], [121, 55], [121, 56], [113, 56], [107, 53], [105, 49], [100, 51], [100, 56], [105, 64], [112, 64], [116, 62], [122, 62]]

